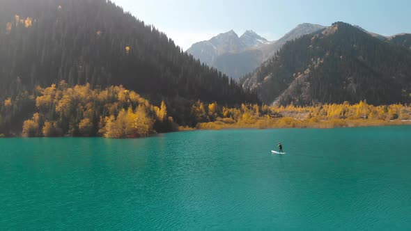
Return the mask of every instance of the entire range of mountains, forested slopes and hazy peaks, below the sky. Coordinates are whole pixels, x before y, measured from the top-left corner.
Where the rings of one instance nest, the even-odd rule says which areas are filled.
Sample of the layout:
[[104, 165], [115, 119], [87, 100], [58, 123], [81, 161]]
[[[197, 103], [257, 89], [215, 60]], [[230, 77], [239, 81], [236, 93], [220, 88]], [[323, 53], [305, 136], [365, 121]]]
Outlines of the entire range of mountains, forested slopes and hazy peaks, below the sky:
[[179, 125], [187, 125], [197, 100], [224, 106], [411, 102], [407, 33], [300, 24], [271, 42], [254, 31], [240, 37], [228, 31], [196, 43], [189, 54], [111, 1], [5, 0], [1, 6], [0, 134], [21, 129], [33, 114], [38, 86], [61, 82], [122, 85], [153, 104], [164, 100]]

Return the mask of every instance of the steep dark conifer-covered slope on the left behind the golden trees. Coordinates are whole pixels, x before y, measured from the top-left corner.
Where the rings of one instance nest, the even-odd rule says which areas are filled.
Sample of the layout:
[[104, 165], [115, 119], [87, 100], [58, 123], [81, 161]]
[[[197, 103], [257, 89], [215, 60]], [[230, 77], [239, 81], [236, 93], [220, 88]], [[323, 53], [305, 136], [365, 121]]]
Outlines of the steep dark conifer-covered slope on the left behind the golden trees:
[[[138, 16], [138, 15], [137, 15]], [[37, 86], [124, 86], [185, 125], [192, 102], [256, 103], [255, 94], [106, 0], [6, 0], [0, 7], [0, 134], [21, 129]], [[33, 95], [34, 94], [34, 95]], [[13, 105], [3, 102], [11, 99]]]

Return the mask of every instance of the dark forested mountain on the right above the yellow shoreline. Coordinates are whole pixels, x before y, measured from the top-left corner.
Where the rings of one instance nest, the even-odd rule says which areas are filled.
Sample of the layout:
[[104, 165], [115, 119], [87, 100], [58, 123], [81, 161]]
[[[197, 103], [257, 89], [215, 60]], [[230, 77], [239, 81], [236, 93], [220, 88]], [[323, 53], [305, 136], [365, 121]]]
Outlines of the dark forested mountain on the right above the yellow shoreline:
[[395, 43], [337, 22], [286, 43], [242, 83], [266, 104], [408, 104], [411, 51]]

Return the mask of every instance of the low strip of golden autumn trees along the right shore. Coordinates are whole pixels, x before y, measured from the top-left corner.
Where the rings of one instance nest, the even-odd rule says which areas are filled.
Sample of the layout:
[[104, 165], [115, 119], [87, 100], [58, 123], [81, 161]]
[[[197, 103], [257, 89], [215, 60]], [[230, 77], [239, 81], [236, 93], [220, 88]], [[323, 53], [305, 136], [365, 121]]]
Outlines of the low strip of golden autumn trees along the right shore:
[[[193, 105], [200, 104], [196, 102]], [[208, 114], [217, 114], [214, 122], [197, 120], [198, 129], [227, 128], [287, 128], [287, 127], [361, 127], [411, 124], [411, 107], [402, 104], [373, 106], [366, 102], [357, 104], [318, 104], [315, 106], [258, 106], [242, 104], [240, 108], [215, 109], [208, 107]], [[198, 118], [197, 118], [198, 119]]]

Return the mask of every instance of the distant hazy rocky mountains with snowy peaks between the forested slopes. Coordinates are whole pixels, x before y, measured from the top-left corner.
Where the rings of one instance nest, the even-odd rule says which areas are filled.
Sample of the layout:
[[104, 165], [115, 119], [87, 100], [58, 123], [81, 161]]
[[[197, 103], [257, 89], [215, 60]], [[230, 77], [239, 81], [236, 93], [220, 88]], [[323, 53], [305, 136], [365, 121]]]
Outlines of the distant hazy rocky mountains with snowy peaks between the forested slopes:
[[207, 65], [216, 67], [233, 78], [252, 72], [278, 51], [287, 41], [313, 33], [325, 26], [300, 24], [277, 41], [268, 41], [254, 31], [245, 31], [240, 37], [234, 31], [220, 33], [203, 42], [196, 42], [187, 53]]

